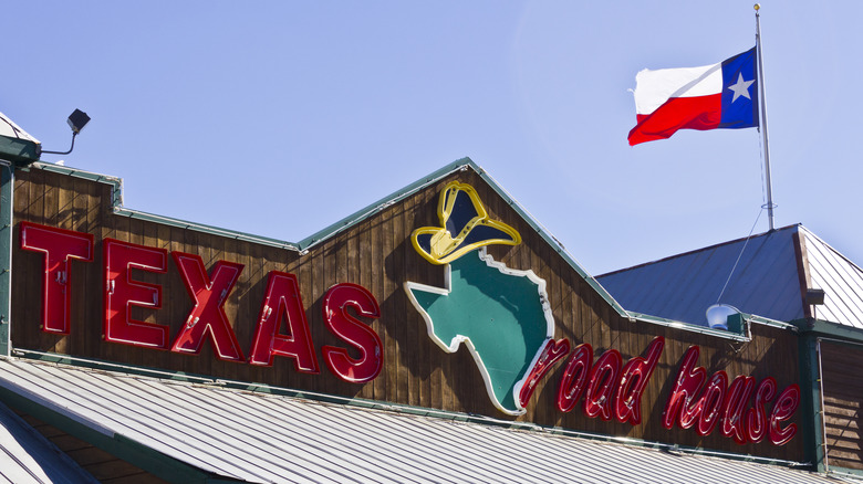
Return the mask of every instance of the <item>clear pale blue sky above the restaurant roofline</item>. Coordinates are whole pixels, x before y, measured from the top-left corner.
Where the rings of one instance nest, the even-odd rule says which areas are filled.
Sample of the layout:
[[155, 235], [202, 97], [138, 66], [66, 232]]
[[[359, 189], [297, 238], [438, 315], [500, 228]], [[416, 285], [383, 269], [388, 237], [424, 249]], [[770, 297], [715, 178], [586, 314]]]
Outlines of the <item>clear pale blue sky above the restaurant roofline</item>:
[[[44, 160], [288, 241], [467, 156], [601, 274], [749, 233], [757, 130], [626, 134], [635, 74], [750, 49], [752, 3], [8, 2], [0, 112], [65, 150], [81, 108]], [[863, 2], [761, 6], [776, 224], [863, 263]]]

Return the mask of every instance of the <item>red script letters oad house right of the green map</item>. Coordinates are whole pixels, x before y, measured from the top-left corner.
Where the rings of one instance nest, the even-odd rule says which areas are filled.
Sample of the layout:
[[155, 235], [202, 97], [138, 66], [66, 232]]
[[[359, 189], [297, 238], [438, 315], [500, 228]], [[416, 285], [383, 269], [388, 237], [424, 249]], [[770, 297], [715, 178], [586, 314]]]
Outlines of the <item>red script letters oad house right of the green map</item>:
[[[630, 359], [621, 368], [622, 358], [616, 349], [603, 353], [593, 364], [593, 348], [584, 343], [575, 347], [560, 379], [558, 409], [572, 411], [584, 396], [584, 414], [637, 425], [642, 422], [641, 399], [647, 381], [663, 353], [665, 339], [657, 336], [647, 347], [645, 357]], [[800, 406], [800, 387], [786, 388], [768, 417], [766, 404], [777, 393], [776, 380], [765, 378], [756, 389], [755, 378], [739, 376], [728, 385], [725, 371], [716, 371], [709, 378], [707, 370], [697, 366], [699, 348], [690, 346], [680, 361], [672, 392], [663, 412], [663, 425], [682, 429], [695, 427], [699, 435], [709, 435], [717, 427], [722, 435], [735, 442], [760, 442], [770, 435], [776, 445], [788, 443], [797, 433], [797, 424], [781, 428]], [[752, 408], [746, 410], [755, 390]]]

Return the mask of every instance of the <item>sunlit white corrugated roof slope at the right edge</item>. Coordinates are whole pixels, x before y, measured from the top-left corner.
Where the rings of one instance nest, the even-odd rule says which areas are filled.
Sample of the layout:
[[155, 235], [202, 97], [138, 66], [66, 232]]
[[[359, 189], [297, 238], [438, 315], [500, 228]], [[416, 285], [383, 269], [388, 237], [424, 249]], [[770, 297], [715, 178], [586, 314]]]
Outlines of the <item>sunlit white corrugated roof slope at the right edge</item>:
[[810, 287], [824, 290], [824, 304], [815, 306], [819, 319], [863, 328], [863, 270], [805, 228]]

